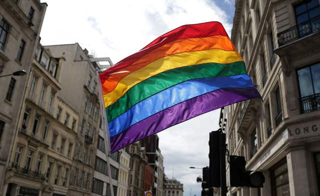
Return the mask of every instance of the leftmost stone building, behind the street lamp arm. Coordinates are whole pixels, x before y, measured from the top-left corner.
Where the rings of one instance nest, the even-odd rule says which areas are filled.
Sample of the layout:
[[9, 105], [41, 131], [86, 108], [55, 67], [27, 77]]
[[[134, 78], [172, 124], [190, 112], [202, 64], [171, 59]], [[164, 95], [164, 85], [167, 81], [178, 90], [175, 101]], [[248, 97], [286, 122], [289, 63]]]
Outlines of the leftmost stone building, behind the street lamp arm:
[[[46, 10], [40, 0], [0, 1], [0, 76], [17, 70], [30, 71], [34, 49]], [[29, 74], [0, 77], [0, 194], [6, 191], [3, 180], [19, 129], [20, 108]]]

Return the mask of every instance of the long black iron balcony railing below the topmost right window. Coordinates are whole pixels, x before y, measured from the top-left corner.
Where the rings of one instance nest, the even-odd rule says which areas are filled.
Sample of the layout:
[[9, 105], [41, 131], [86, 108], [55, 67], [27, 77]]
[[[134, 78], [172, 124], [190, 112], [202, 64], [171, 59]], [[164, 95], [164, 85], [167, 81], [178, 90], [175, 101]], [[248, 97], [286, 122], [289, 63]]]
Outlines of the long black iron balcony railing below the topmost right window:
[[320, 30], [320, 15], [277, 34], [279, 46]]

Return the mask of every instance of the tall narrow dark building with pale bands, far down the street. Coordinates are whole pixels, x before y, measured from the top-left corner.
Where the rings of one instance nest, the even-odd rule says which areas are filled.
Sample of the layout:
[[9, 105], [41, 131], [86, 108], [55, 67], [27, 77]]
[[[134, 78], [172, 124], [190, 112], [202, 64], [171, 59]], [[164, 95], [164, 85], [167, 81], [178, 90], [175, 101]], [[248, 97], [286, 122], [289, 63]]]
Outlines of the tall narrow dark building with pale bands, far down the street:
[[141, 140], [141, 145], [146, 149], [146, 156], [148, 157], [148, 164], [154, 170], [154, 185], [152, 193], [157, 196], [164, 195], [163, 189], [163, 156], [159, 148], [159, 137], [157, 134], [150, 135]]

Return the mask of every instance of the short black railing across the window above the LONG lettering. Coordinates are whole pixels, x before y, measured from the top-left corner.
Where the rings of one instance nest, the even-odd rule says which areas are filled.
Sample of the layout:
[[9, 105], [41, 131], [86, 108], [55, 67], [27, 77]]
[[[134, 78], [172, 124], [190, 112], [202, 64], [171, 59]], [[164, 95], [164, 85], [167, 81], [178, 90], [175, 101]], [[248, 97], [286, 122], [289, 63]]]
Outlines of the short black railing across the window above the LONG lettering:
[[320, 110], [320, 93], [300, 98], [301, 113]]

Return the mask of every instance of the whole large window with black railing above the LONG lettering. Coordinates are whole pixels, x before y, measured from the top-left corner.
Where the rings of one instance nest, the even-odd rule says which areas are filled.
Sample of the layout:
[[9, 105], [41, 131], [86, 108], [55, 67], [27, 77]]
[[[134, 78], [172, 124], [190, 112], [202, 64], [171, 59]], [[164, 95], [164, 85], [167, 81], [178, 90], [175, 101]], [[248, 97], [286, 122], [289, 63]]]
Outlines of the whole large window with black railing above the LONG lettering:
[[297, 70], [301, 113], [320, 110], [320, 63]]

